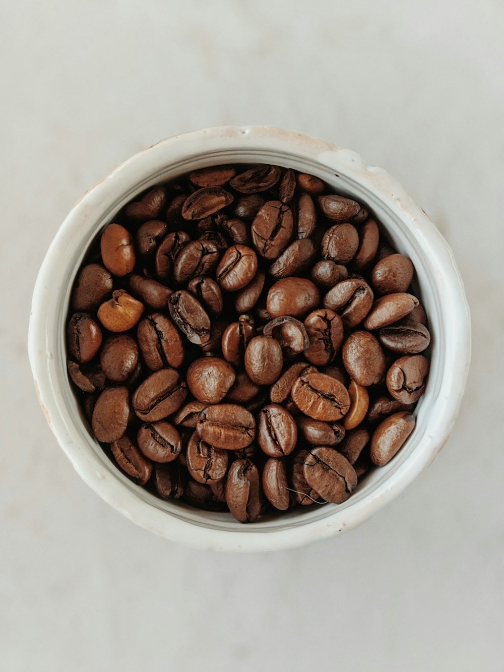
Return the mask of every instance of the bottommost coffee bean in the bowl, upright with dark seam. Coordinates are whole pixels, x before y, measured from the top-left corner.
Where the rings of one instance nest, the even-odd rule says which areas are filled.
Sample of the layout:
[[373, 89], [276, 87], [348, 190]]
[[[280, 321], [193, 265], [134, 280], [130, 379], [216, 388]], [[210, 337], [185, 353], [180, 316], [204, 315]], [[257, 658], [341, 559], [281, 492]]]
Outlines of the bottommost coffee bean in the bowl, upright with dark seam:
[[253, 523], [261, 513], [259, 470], [250, 460], [235, 460], [226, 478], [226, 504], [241, 523]]

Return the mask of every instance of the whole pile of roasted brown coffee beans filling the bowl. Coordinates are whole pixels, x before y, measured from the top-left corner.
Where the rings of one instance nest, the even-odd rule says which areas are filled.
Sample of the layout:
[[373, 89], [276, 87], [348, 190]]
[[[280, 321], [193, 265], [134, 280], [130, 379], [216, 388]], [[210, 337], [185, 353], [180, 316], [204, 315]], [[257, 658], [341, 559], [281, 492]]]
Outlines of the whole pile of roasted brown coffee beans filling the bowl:
[[95, 241], [68, 371], [136, 484], [253, 522], [342, 503], [403, 446], [429, 369], [413, 264], [333, 191], [274, 165], [207, 167]]

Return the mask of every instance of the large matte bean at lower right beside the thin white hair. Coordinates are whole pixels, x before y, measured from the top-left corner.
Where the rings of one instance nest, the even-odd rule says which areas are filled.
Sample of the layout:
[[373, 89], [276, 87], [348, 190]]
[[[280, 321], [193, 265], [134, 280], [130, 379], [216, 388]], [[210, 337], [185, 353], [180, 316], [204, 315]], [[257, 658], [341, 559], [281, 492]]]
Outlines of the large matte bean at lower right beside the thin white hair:
[[303, 462], [306, 482], [333, 504], [346, 501], [357, 485], [355, 469], [334, 448], [312, 448]]

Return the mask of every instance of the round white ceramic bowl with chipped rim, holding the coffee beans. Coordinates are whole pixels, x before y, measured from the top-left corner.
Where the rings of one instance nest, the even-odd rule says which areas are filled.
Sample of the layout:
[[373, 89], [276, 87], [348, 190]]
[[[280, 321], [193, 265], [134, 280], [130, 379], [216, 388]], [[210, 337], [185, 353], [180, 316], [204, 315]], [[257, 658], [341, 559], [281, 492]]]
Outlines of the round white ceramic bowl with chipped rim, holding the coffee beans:
[[[398, 454], [370, 472], [343, 504], [298, 507], [243, 525], [229, 513], [161, 501], [134, 485], [93, 439], [67, 377], [64, 325], [75, 274], [93, 239], [137, 194], [192, 169], [220, 163], [273, 163], [312, 173], [364, 202], [408, 255], [429, 317], [431, 368], [415, 430]], [[46, 419], [87, 484], [138, 525], [168, 539], [214, 550], [278, 550], [355, 528], [396, 497], [444, 446], [458, 413], [470, 361], [470, 319], [450, 248], [425, 212], [385, 171], [331, 142], [271, 127], [207, 128], [128, 159], [89, 190], [61, 225], [36, 282], [29, 354]], [[63, 503], [62, 503], [63, 504]], [[301, 510], [302, 509], [302, 510]]]

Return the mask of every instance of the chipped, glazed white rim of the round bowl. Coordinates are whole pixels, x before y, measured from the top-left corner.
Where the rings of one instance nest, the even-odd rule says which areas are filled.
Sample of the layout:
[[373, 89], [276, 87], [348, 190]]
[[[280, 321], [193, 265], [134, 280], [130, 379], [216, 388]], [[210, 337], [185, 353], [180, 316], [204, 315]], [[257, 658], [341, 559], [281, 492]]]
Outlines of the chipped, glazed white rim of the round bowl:
[[[108, 202], [113, 194], [123, 194], [127, 185], [135, 185], [138, 193], [143, 190], [139, 175], [152, 177], [154, 169], [168, 165], [175, 157], [191, 157], [202, 153], [233, 147], [239, 151], [261, 149], [266, 152], [298, 153], [310, 157], [333, 171], [351, 175], [351, 178], [374, 193], [381, 202], [409, 225], [415, 233], [423, 235], [433, 263], [443, 269], [442, 302], [450, 310], [452, 325], [451, 380], [452, 394], [444, 390], [444, 417], [439, 412], [437, 435], [427, 437], [423, 450], [409, 456], [382, 485], [366, 499], [347, 507], [344, 513], [336, 509], [321, 520], [300, 523], [282, 530], [247, 533], [251, 526], [241, 526], [233, 531], [214, 530], [198, 526], [161, 511], [146, 501], [135, 497], [124, 488], [120, 478], [110, 478], [100, 468], [99, 462], [89, 451], [75, 441], [71, 418], [65, 411], [58, 390], [51, 380], [56, 375], [57, 362], [54, 337], [51, 335], [49, 315], [46, 310], [48, 290], [60, 277], [61, 259], [65, 257], [73, 238], [85, 226], [98, 207]], [[251, 163], [253, 163], [251, 161]], [[211, 164], [209, 164], [211, 165]], [[131, 186], [130, 186], [131, 188]], [[129, 198], [129, 197], [128, 197]], [[89, 236], [88, 236], [89, 241]], [[58, 440], [58, 444], [71, 460], [81, 478], [102, 499], [130, 520], [170, 540], [188, 546], [212, 550], [283, 550], [304, 546], [314, 540], [340, 534], [355, 528], [394, 499], [435, 458], [450, 435], [458, 414], [470, 363], [470, 315], [462, 279], [448, 243], [435, 228], [427, 214], [407, 195], [403, 187], [386, 171], [367, 166], [355, 152], [342, 149], [332, 142], [312, 138], [306, 134], [274, 126], [220, 126], [178, 134], [165, 138], [133, 155], [101, 179], [73, 206], [54, 237], [40, 267], [32, 298], [32, 312], [28, 333], [28, 353], [34, 375], [36, 391], [44, 415]], [[66, 372], [65, 372], [66, 375]], [[448, 383], [446, 384], [448, 388]]]

